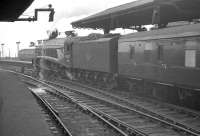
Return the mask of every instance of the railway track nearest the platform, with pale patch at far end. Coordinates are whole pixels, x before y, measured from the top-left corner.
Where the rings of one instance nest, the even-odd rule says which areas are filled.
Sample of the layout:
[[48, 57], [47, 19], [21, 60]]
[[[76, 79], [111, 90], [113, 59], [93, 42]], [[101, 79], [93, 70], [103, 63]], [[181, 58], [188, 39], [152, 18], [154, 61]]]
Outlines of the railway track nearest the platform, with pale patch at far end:
[[[40, 86], [30, 90], [50, 107], [55, 116], [58, 116], [64, 128], [68, 128], [70, 136], [128, 136], [86, 105], [77, 103], [74, 99], [58, 92], [56, 88], [48, 88], [47, 84], [42, 82], [38, 84], [33, 79], [30, 81], [27, 76], [25, 80], [24, 82], [28, 84]], [[37, 93], [41, 87], [45, 93]]]

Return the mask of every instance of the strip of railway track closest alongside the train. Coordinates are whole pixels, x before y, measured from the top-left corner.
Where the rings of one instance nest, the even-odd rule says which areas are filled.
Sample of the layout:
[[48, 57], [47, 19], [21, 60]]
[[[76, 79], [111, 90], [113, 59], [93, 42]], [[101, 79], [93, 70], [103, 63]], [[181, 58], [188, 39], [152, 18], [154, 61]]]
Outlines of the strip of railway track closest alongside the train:
[[84, 89], [83, 93], [93, 94], [99, 97], [104, 97], [105, 99], [110, 99], [114, 102], [123, 104], [130, 108], [141, 110], [145, 113], [149, 113], [160, 119], [166, 120], [167, 122], [179, 125], [185, 129], [200, 134], [200, 113], [197, 111], [144, 97], [130, 96], [130, 94], [124, 95], [125, 92], [121, 93], [117, 90], [103, 91], [88, 85], [66, 80], [59, 80], [58, 82], [63, 83], [63, 85], [67, 84], [72, 88], [75, 87], [79, 90], [86, 88]]

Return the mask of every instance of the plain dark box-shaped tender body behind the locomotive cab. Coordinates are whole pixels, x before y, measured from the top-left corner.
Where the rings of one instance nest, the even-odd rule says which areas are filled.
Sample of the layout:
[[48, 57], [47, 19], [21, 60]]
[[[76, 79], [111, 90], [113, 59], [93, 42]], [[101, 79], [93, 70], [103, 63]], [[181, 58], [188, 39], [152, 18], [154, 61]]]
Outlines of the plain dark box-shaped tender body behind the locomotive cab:
[[100, 72], [117, 72], [117, 39], [102, 38], [73, 44], [73, 67]]

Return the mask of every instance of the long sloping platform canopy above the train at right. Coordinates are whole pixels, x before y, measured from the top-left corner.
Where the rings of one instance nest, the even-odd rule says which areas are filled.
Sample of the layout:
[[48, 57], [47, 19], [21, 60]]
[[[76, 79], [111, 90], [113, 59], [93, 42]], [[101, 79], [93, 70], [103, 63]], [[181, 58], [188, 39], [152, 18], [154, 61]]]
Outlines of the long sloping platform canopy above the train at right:
[[112, 30], [200, 18], [200, 0], [137, 0], [72, 22], [74, 28]]

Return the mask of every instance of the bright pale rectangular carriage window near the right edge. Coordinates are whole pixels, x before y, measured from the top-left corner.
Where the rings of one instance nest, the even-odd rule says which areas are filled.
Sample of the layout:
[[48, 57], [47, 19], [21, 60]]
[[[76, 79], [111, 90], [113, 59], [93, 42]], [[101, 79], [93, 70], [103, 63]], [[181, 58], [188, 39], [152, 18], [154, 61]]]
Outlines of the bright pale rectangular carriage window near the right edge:
[[185, 66], [196, 67], [196, 50], [185, 50]]

